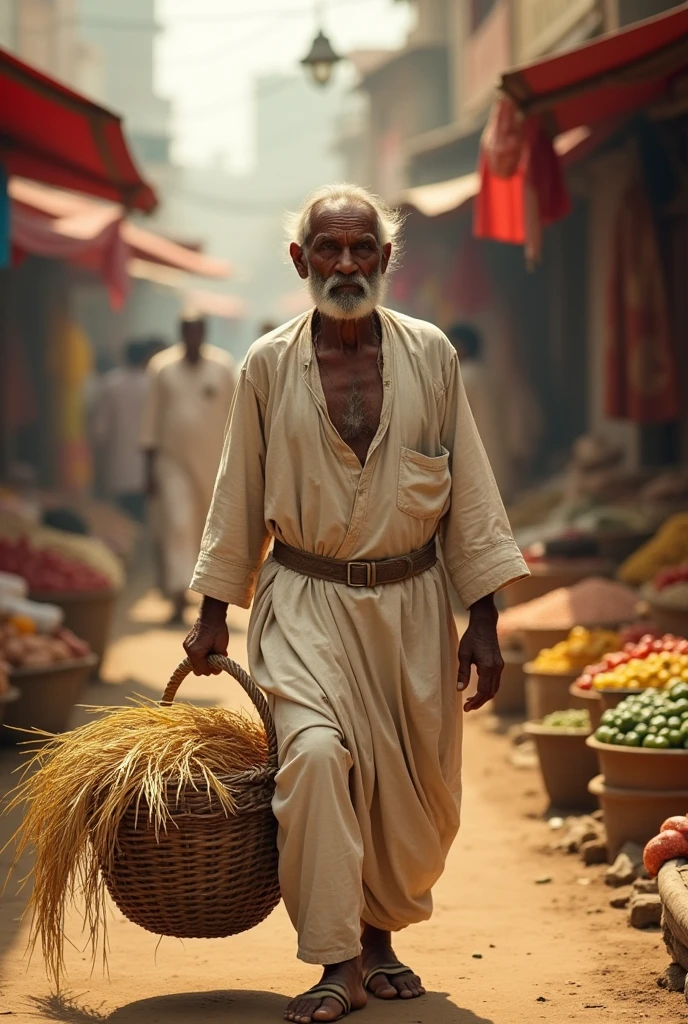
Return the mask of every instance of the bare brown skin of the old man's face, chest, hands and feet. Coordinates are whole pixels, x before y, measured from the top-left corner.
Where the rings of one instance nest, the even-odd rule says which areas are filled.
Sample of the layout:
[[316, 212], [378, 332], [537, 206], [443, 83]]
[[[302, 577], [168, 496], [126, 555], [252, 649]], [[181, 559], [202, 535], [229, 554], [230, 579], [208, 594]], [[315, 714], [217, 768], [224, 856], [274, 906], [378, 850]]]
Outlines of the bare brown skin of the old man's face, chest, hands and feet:
[[[371, 278], [385, 272], [391, 254], [390, 245], [380, 245], [373, 210], [363, 206], [332, 209], [317, 207], [311, 217], [311, 233], [302, 248], [293, 243], [290, 254], [300, 278], [317, 273], [329, 279], [334, 273]], [[360, 288], [345, 286], [353, 294]], [[316, 355], [320, 381], [334, 427], [344, 436], [347, 426], [347, 400], [352, 381], [359, 389], [363, 413], [363, 427], [357, 437], [346, 442], [358, 457], [361, 465], [377, 432], [383, 400], [383, 385], [379, 367], [379, 338], [376, 314], [359, 319], [334, 319], [319, 314], [316, 332]], [[208, 654], [225, 654], [228, 644], [226, 626], [227, 605], [211, 597], [204, 597], [199, 618], [188, 634], [184, 649], [197, 676], [208, 675], [213, 670]], [[478, 676], [478, 689], [465, 702], [466, 711], [482, 708], [497, 693], [504, 662], [497, 637], [498, 613], [493, 596], [486, 595], [469, 609], [469, 623], [459, 645], [459, 675], [457, 686], [465, 690], [474, 666]], [[365, 1004], [362, 974], [378, 964], [396, 963], [389, 932], [361, 923], [362, 954], [342, 964], [325, 967], [322, 981], [337, 981], [346, 986], [352, 1005]], [[379, 975], [370, 985], [374, 995], [383, 999], [410, 999], [425, 992], [420, 978], [413, 972], [397, 976]], [[287, 1008], [285, 1019], [294, 1024], [312, 1021], [334, 1021], [341, 1016], [341, 1007], [333, 999], [314, 999], [297, 996]]]

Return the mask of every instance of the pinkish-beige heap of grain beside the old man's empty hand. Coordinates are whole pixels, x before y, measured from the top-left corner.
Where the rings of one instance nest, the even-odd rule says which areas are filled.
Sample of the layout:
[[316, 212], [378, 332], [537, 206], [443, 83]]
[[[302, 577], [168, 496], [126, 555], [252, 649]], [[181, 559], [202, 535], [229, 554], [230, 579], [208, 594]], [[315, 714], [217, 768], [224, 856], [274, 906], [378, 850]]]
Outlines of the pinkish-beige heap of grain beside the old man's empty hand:
[[636, 617], [638, 597], [622, 584], [590, 577], [560, 587], [500, 615], [500, 633], [520, 630], [571, 630], [574, 626], [619, 626]]

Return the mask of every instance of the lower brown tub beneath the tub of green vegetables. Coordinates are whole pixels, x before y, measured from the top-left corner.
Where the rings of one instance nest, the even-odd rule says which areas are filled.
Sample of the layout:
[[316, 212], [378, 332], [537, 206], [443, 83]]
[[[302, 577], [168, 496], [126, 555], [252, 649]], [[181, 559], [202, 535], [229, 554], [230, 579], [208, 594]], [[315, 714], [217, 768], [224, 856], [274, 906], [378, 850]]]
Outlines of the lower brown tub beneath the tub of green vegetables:
[[[656, 752], [648, 752], [656, 753]], [[645, 846], [659, 831], [665, 818], [683, 814], [688, 807], [688, 790], [633, 790], [609, 785], [603, 775], [589, 784], [592, 796], [600, 802], [607, 833], [609, 862], [613, 862], [625, 843]]]

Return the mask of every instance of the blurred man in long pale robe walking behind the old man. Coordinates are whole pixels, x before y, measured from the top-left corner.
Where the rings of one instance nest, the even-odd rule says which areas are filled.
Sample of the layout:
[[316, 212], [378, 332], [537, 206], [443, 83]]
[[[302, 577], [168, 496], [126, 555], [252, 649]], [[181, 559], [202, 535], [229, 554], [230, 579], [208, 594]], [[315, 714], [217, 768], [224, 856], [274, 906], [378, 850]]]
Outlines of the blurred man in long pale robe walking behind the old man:
[[139, 443], [155, 516], [171, 625], [183, 622], [186, 591], [210, 508], [222, 437], [236, 384], [234, 365], [206, 344], [206, 323], [182, 317], [181, 342], [148, 364]]

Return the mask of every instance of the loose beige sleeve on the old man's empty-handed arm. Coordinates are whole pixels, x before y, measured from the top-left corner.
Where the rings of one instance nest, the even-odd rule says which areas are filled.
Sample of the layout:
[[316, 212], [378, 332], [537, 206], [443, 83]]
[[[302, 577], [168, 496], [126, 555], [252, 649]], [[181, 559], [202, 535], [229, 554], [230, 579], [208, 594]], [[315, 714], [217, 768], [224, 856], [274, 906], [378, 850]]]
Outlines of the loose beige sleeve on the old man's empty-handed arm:
[[451, 583], [469, 608], [529, 572], [511, 532], [455, 352], [444, 386], [442, 444], [450, 456], [451, 503], [440, 538]]

